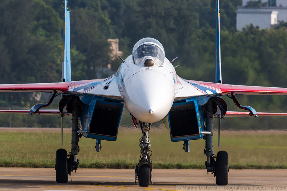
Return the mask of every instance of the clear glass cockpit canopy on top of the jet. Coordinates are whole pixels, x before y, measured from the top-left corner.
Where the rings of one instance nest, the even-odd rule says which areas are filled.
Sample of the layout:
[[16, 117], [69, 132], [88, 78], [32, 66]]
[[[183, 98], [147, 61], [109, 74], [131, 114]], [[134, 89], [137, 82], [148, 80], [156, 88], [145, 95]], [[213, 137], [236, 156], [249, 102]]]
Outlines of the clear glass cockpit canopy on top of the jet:
[[164, 48], [162, 44], [154, 38], [143, 38], [133, 47], [133, 62], [139, 65], [147, 59], [151, 59], [158, 66], [164, 62]]

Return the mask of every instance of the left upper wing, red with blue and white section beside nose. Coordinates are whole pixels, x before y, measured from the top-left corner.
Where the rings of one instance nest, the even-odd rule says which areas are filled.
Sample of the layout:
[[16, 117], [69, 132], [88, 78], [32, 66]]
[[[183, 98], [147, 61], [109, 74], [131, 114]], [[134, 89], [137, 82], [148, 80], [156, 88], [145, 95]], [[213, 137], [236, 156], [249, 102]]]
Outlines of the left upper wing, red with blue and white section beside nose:
[[71, 82], [1, 84], [1, 92], [58, 92], [72, 95], [98, 95], [123, 100], [113, 76], [106, 79]]

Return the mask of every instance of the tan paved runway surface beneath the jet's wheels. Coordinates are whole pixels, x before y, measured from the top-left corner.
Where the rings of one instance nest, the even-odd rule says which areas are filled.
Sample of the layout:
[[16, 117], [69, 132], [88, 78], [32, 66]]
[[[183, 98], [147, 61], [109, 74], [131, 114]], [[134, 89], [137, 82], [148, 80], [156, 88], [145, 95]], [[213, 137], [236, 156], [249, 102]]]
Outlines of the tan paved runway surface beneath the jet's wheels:
[[[153, 169], [149, 187], [135, 184], [133, 169], [78, 169], [67, 184], [57, 184], [55, 169], [0, 168], [0, 190], [277, 190], [287, 189], [287, 169], [229, 170], [228, 187], [196, 169]], [[241, 189], [240, 189], [241, 188]], [[251, 188], [251, 189], [250, 189]]]

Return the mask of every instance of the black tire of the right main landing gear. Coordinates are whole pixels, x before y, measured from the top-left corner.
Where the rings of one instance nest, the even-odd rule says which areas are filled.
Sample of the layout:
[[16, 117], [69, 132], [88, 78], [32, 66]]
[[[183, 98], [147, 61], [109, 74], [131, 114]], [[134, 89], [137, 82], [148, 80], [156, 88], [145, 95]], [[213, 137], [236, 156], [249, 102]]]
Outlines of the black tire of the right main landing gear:
[[228, 153], [226, 151], [219, 151], [216, 155], [215, 178], [218, 186], [228, 184]]

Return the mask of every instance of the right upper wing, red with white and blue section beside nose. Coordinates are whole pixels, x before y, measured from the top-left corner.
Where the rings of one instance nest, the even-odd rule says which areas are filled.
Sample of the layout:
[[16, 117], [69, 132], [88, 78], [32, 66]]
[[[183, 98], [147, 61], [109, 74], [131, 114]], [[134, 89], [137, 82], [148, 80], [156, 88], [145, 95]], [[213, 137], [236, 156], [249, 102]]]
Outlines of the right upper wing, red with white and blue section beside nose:
[[220, 84], [195, 80], [184, 80], [178, 76], [178, 91], [175, 100], [187, 99], [195, 96], [221, 96], [228, 94], [245, 95], [287, 95], [287, 88], [243, 86], [232, 84]]

